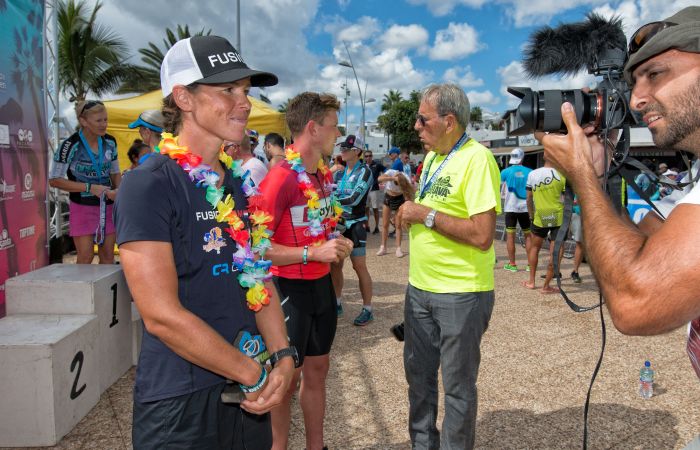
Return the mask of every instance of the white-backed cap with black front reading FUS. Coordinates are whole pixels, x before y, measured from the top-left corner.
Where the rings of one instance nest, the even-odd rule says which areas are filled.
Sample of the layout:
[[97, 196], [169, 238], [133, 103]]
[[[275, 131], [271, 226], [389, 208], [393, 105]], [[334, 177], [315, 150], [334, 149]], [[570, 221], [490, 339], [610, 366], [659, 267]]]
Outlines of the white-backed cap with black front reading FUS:
[[177, 41], [160, 66], [163, 97], [178, 84], [231, 83], [248, 77], [253, 87], [278, 83], [276, 75], [249, 68], [233, 45], [220, 36], [193, 36]]

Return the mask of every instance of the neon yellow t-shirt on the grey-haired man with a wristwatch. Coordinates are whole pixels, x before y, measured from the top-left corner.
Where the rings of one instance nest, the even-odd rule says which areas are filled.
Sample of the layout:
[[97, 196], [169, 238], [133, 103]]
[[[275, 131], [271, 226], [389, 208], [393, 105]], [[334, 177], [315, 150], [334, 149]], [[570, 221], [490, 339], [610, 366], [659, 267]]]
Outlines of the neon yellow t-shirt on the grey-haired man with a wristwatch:
[[[424, 167], [430, 172], [425, 179], [430, 180], [445, 158], [446, 155], [428, 153]], [[421, 183], [423, 180], [421, 174]], [[470, 139], [443, 166], [422, 200], [419, 188], [416, 203], [463, 219], [490, 209], [498, 214], [501, 212], [500, 184], [501, 175], [493, 154]], [[426, 228], [422, 223], [411, 225], [409, 235], [408, 281], [413, 286], [434, 293], [493, 290], [493, 245], [481, 251]]]

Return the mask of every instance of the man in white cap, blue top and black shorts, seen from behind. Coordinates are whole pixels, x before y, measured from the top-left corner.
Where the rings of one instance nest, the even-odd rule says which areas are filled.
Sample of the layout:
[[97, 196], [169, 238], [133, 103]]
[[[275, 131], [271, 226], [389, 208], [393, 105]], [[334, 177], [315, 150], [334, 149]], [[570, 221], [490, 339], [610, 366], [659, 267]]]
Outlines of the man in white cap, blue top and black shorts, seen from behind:
[[517, 272], [515, 264], [515, 231], [520, 225], [525, 235], [525, 257], [530, 252], [530, 215], [527, 212], [527, 176], [532, 169], [522, 166], [525, 152], [521, 148], [514, 148], [510, 152], [510, 167], [501, 172], [501, 191], [505, 194], [503, 211], [506, 216], [506, 248], [508, 249], [508, 262], [503, 268], [510, 272]]

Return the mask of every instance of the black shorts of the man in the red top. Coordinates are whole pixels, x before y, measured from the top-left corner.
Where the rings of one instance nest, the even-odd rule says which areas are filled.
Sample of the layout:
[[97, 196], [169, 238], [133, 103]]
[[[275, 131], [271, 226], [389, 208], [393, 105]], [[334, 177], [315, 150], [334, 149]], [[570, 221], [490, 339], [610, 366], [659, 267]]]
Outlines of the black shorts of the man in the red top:
[[331, 275], [316, 280], [274, 277], [287, 320], [289, 342], [296, 347], [299, 364], [304, 356], [330, 353], [338, 325]]

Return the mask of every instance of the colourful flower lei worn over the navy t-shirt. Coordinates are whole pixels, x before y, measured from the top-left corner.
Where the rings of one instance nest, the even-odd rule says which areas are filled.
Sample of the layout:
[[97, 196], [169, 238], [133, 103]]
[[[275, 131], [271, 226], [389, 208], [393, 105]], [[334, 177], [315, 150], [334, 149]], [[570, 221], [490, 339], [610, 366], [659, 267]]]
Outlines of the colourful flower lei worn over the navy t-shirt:
[[216, 220], [228, 224], [229, 227], [224, 231], [236, 243], [233, 265], [241, 272], [238, 275], [238, 282], [244, 289], [248, 289], [246, 292], [248, 308], [255, 312], [260, 311], [263, 306], [270, 303], [270, 291], [265, 287], [264, 282], [272, 278], [270, 274], [272, 263], [264, 257], [271, 245], [272, 231], [266, 224], [272, 222], [272, 216], [259, 207], [258, 192], [250, 180], [250, 173], [243, 172], [241, 162], [234, 161], [224, 152], [223, 146], [221, 147], [219, 160], [233, 176], [243, 179], [243, 192], [248, 197], [249, 211], [251, 211], [248, 216], [252, 224], [251, 232], [246, 229], [245, 223], [236, 214], [231, 194], [224, 198], [223, 186], [216, 187], [219, 174], [209, 165], [202, 164], [201, 156], [195, 155], [186, 146], [179, 145], [177, 138], [170, 133], [163, 133], [156, 152], [174, 159], [198, 187], [206, 187], [206, 199], [218, 212]]

